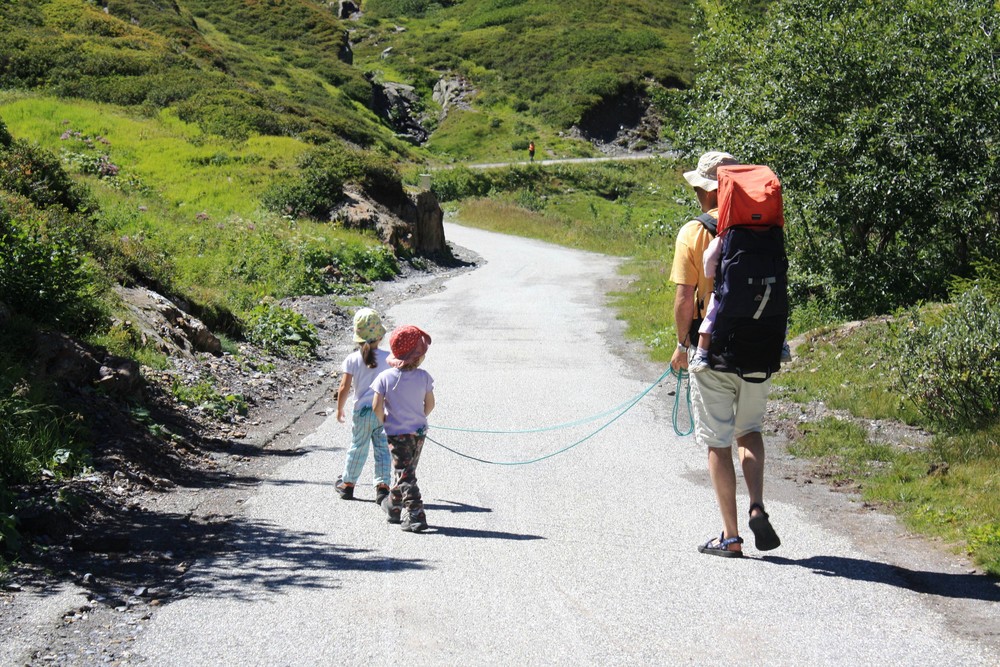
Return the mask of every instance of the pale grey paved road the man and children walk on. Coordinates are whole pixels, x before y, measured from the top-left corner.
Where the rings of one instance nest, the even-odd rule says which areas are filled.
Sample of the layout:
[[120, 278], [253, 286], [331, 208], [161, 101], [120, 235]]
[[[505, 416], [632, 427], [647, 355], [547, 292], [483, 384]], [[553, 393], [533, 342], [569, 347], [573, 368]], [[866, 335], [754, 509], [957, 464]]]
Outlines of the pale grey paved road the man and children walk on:
[[[572, 422], [662, 373], [627, 353], [607, 307], [615, 260], [446, 233], [484, 265], [388, 313], [433, 337], [432, 426]], [[157, 610], [133, 654], [178, 666], [1000, 664], [997, 625], [976, 641], [949, 616], [961, 603], [1000, 625], [995, 587], [889, 563], [794, 490], [767, 499], [780, 549], [756, 552], [748, 535], [748, 558], [699, 554], [721, 523], [705, 453], [673, 435], [671, 400], [658, 387], [529, 465], [428, 442], [418, 477], [431, 530], [419, 535], [385, 522], [370, 461], [360, 500], [337, 497], [350, 433], [330, 417], [249, 498], [230, 549], [192, 568], [190, 597]], [[516, 463], [606, 421], [430, 435]], [[936, 592], [914, 590], [916, 575]]]

